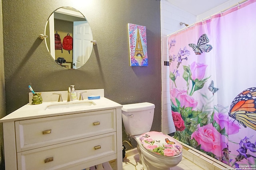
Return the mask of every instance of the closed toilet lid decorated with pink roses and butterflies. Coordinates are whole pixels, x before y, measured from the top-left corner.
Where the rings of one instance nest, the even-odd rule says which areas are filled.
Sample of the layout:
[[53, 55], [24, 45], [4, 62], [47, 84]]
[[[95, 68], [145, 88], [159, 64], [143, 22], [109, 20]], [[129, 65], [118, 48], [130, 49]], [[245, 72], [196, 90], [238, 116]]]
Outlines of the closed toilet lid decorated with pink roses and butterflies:
[[139, 140], [145, 149], [162, 156], [175, 156], [182, 152], [182, 145], [176, 139], [161, 132], [143, 133]]

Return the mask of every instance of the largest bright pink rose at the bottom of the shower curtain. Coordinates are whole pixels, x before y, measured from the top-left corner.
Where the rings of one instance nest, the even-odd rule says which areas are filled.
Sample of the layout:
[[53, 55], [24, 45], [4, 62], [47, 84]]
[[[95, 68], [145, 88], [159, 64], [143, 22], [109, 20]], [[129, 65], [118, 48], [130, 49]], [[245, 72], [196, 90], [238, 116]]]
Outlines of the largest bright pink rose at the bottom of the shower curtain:
[[212, 152], [216, 156], [221, 156], [221, 134], [212, 124], [199, 127], [198, 131], [192, 133], [191, 139], [193, 138], [198, 142], [198, 145], [201, 145], [201, 149], [204, 151]]

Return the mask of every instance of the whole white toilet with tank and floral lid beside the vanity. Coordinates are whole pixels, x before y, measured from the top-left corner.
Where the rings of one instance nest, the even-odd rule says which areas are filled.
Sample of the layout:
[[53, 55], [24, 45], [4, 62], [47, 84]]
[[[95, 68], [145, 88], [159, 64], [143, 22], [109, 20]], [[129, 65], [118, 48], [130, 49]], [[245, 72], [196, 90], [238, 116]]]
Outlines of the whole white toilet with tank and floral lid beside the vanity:
[[126, 132], [137, 142], [140, 161], [136, 170], [170, 170], [182, 160], [182, 145], [161, 132], [150, 131], [155, 105], [144, 102], [122, 107]]

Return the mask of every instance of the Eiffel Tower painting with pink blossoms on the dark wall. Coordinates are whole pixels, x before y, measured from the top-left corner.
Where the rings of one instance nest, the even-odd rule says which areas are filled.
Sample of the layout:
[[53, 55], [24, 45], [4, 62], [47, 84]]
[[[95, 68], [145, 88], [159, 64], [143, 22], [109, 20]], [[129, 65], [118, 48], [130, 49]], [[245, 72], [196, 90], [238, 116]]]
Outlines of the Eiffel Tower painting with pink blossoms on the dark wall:
[[128, 23], [130, 66], [148, 66], [146, 27]]

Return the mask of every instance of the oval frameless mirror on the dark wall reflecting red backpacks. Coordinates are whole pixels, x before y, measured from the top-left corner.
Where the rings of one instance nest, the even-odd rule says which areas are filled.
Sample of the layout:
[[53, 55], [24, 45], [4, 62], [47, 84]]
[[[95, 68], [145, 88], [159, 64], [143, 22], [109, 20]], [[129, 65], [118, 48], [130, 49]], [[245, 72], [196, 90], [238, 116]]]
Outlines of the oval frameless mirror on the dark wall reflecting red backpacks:
[[49, 53], [64, 68], [83, 66], [92, 53], [92, 29], [84, 15], [74, 8], [62, 7], [52, 12], [45, 35]]

